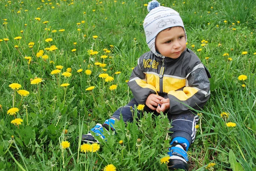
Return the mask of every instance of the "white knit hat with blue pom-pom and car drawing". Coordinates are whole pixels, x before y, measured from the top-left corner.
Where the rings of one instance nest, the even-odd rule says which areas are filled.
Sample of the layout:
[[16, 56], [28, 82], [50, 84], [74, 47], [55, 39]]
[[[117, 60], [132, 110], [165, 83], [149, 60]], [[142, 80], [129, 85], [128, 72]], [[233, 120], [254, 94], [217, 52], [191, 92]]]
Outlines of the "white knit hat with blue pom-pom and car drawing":
[[161, 58], [165, 58], [159, 52], [157, 52], [155, 47], [155, 41], [158, 33], [162, 30], [181, 26], [185, 32], [186, 39], [186, 31], [184, 28], [184, 24], [182, 19], [180, 18], [180, 14], [176, 12], [174, 9], [160, 6], [160, 3], [157, 0], [152, 0], [148, 3], [148, 14], [145, 17], [143, 27], [146, 35], [146, 42], [148, 44], [149, 49], [157, 56]]

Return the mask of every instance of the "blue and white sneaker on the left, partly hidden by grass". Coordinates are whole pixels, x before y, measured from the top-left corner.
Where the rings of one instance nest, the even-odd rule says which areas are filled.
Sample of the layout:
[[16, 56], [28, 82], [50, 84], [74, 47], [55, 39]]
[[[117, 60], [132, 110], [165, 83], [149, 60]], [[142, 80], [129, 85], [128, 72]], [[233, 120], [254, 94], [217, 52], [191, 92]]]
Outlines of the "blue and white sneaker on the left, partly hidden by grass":
[[[87, 143], [87, 142], [99, 143], [99, 141], [97, 140], [98, 138], [105, 139], [105, 136], [103, 135], [103, 128], [105, 128], [107, 131], [109, 130], [109, 128], [111, 128], [111, 130], [114, 131], [115, 130], [113, 128], [114, 123], [115, 123], [115, 119], [111, 118], [106, 120], [103, 125], [96, 124], [96, 126], [93, 127], [89, 133], [82, 135], [82, 140], [81, 140], [82, 143]], [[94, 135], [96, 136], [95, 138], [93, 137], [91, 132], [94, 133]]]

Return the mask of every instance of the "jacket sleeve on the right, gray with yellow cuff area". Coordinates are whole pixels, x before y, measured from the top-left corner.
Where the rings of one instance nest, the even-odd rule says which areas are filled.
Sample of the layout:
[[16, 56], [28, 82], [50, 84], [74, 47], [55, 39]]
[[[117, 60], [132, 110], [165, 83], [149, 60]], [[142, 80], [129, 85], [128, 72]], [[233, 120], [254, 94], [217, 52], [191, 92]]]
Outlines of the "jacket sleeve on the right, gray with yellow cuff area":
[[168, 92], [170, 113], [180, 114], [189, 111], [189, 107], [200, 110], [209, 99], [210, 74], [202, 63], [197, 64], [186, 75], [186, 86]]

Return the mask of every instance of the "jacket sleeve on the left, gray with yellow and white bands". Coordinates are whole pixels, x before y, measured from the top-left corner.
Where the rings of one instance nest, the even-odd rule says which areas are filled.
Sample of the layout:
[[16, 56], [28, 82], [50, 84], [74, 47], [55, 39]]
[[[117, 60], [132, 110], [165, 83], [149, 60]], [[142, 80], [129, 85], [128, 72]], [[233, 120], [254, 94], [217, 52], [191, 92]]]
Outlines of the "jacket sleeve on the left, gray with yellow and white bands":
[[147, 76], [140, 69], [139, 64], [132, 71], [128, 86], [139, 104], [145, 104], [150, 94], [157, 94], [156, 88], [147, 83]]

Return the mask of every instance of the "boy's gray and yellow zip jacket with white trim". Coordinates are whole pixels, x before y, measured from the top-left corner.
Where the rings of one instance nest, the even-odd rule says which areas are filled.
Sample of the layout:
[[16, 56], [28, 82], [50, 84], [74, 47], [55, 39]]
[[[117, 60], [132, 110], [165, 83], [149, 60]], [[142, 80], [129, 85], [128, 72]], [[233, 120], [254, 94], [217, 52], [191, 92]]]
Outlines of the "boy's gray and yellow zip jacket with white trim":
[[139, 104], [150, 94], [170, 99], [171, 114], [189, 112], [190, 106], [200, 109], [209, 99], [209, 71], [190, 49], [177, 59], [160, 58], [149, 51], [138, 59], [128, 86]]

